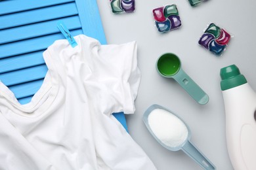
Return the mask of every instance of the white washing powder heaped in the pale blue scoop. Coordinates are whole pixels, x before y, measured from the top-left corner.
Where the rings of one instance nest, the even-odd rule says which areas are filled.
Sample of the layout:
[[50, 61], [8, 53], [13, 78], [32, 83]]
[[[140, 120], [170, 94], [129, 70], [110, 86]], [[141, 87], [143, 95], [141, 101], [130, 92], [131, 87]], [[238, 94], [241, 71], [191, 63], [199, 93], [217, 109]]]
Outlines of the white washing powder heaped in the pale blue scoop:
[[188, 137], [188, 128], [181, 119], [164, 109], [152, 110], [148, 124], [154, 135], [170, 147], [181, 146]]

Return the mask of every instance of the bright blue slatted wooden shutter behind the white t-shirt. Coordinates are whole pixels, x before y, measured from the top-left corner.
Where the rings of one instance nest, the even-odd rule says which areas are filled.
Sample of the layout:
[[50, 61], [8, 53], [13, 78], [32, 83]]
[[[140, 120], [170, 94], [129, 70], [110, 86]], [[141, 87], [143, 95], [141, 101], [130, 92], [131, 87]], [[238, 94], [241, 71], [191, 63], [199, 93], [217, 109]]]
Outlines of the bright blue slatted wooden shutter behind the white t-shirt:
[[[73, 36], [81, 33], [106, 44], [96, 0], [0, 1], [0, 80], [18, 101], [29, 103], [47, 73], [43, 51], [64, 39], [62, 20]], [[125, 116], [114, 114], [125, 128]]]

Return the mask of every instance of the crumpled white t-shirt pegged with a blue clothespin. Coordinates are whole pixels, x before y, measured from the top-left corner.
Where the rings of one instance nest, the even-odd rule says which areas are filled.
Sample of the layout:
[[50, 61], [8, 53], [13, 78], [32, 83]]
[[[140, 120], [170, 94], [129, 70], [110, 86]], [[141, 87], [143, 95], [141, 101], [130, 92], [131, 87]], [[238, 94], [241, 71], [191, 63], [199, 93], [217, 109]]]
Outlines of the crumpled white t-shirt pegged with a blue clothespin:
[[137, 44], [77, 46], [58, 40], [32, 101], [20, 105], [0, 82], [0, 169], [156, 169], [112, 112], [135, 111], [140, 82]]

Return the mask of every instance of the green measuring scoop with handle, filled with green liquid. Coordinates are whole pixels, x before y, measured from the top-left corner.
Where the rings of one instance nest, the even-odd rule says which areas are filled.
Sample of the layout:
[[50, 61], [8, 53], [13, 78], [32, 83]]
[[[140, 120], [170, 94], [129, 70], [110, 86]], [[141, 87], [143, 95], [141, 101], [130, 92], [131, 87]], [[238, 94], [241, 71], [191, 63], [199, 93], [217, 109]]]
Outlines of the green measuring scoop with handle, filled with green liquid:
[[156, 69], [161, 76], [174, 78], [199, 104], [205, 105], [209, 101], [209, 96], [182, 70], [181, 60], [175, 54], [161, 55], [156, 63]]

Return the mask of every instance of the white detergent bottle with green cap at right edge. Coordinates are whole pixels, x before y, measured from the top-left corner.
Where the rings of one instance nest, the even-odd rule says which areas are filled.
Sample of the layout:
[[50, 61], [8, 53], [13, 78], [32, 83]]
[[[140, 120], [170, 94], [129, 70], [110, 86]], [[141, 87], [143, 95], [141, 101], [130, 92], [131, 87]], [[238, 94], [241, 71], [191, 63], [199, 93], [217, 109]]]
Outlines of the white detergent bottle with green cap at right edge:
[[256, 169], [256, 93], [236, 65], [221, 69], [226, 144], [235, 170]]

